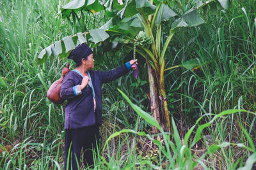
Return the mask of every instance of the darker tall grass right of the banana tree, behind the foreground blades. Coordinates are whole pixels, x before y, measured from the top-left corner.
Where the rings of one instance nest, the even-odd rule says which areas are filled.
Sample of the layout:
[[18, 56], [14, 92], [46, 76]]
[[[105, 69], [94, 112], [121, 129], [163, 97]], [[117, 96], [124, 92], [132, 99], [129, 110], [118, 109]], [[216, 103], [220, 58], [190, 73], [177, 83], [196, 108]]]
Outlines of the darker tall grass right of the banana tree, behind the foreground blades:
[[[169, 95], [177, 106], [172, 110], [173, 117], [180, 120], [178, 126], [182, 136], [187, 131], [184, 127], [193, 126], [200, 116], [205, 117], [202, 122], [209, 122], [212, 114], [225, 110], [243, 108], [255, 112], [256, 31], [252, 4], [253, 1], [232, 1], [233, 8], [229, 11], [209, 17], [207, 24], [195, 29], [180, 29], [173, 40], [168, 55], [168, 60], [172, 61], [170, 67], [189, 59], [198, 60], [199, 67], [197, 70], [175, 69], [166, 74]], [[238, 113], [225, 120], [215, 120], [204, 134], [211, 134], [218, 142], [247, 142], [248, 145], [250, 139], [244, 137], [243, 127], [255, 145], [253, 115]], [[220, 160], [214, 169], [236, 169], [228, 162], [246, 160], [251, 154], [229, 146], [228, 150], [222, 149], [216, 155]]]

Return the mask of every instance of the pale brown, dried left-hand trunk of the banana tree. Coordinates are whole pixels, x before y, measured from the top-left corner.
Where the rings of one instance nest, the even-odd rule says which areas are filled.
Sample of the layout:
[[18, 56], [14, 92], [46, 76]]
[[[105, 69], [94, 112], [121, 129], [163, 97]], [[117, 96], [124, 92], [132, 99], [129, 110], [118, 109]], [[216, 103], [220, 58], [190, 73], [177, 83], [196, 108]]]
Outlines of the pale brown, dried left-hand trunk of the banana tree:
[[[152, 117], [156, 118], [159, 125], [161, 125], [161, 117], [159, 113], [159, 104], [158, 104], [158, 94], [157, 94], [157, 81], [156, 81], [156, 74], [154, 73], [154, 69], [152, 66], [148, 64], [146, 60], [147, 68], [148, 68], [148, 83], [149, 83], [149, 92], [150, 92], [150, 111], [152, 113]], [[157, 133], [157, 129], [154, 126], [152, 128], [152, 132], [154, 134]]]

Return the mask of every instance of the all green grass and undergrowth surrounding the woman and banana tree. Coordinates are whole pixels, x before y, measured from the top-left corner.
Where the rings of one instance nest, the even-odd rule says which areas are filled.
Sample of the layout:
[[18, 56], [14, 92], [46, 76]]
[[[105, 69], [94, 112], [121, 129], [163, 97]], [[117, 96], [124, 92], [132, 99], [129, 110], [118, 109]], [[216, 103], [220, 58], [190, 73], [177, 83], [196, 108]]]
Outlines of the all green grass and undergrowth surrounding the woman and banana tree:
[[[199, 3], [166, 2], [164, 5], [172, 6], [173, 12], [181, 17]], [[95, 7], [96, 3], [92, 3], [87, 6], [89, 11], [70, 11], [70, 17], [65, 18], [68, 10], [63, 10], [63, 6], [69, 1], [3, 0], [2, 3], [0, 167], [63, 169], [65, 105], [52, 104], [46, 92], [61, 76], [61, 69], [68, 61], [67, 48], [63, 50], [61, 46], [60, 57], [56, 53], [53, 57], [45, 50], [46, 57], [42, 55], [44, 60], [40, 65], [36, 64], [38, 55], [67, 36], [87, 31], [87, 41], [95, 47], [96, 69], [108, 70], [124, 64], [133, 57], [133, 43], [120, 37], [129, 36], [127, 31], [115, 34], [108, 30], [116, 27], [105, 27], [109, 38], [99, 44], [97, 41], [103, 39], [93, 39], [90, 30], [96, 34], [99, 27], [109, 24], [111, 12], [120, 11], [112, 19], [114, 26], [120, 15], [127, 17], [125, 12], [131, 12], [130, 6], [127, 3], [126, 11], [122, 11], [124, 6], [113, 1], [118, 11], [114, 8], [111, 11], [110, 6]], [[226, 4], [214, 3], [218, 3], [217, 8]], [[156, 8], [163, 8], [163, 14], [166, 11], [161, 3]], [[166, 46], [173, 19], [158, 18], [158, 23], [163, 20], [161, 31], [157, 34], [159, 24], [150, 29], [153, 39], [158, 38], [156, 48], [166, 48], [163, 76], [173, 131], [164, 132], [162, 124], [149, 114], [152, 107], [148, 100], [148, 66], [151, 65], [143, 59], [145, 47], [138, 46], [138, 80], [129, 73], [103, 86], [101, 156], [95, 160], [95, 169], [255, 168], [255, 8], [255, 0], [232, 1], [229, 10], [214, 10], [211, 3], [205, 4], [198, 15], [204, 15], [206, 24], [177, 28]], [[144, 12], [153, 13], [150, 8]], [[138, 23], [132, 18], [130, 25], [133, 20]], [[129, 25], [126, 23], [125, 27]], [[135, 27], [131, 37], [143, 28], [143, 25]], [[154, 47], [147, 48], [154, 53]], [[154, 66], [152, 59], [148, 62]], [[152, 127], [157, 131], [152, 131]], [[81, 165], [81, 168], [86, 167]]]

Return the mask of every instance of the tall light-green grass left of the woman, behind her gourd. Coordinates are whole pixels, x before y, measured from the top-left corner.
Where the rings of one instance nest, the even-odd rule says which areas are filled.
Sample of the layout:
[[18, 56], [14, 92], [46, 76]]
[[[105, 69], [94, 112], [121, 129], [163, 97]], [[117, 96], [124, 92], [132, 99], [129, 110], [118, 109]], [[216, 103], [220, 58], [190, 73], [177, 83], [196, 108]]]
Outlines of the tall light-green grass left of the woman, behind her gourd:
[[1, 155], [1, 167], [60, 167], [64, 109], [50, 103], [45, 92], [60, 77], [65, 61], [53, 59], [36, 65], [42, 46], [67, 31], [56, 12], [59, 1], [1, 3], [1, 148], [12, 146]]

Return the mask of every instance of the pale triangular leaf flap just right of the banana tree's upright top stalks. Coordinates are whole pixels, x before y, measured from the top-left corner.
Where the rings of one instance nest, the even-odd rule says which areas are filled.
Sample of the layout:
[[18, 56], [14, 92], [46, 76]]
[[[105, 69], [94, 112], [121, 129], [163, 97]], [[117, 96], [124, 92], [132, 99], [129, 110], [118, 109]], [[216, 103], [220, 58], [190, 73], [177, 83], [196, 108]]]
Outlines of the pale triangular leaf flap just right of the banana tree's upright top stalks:
[[163, 20], [170, 20], [170, 18], [177, 16], [177, 13], [169, 8], [166, 4], [161, 4], [156, 16], [155, 24], [159, 24]]

